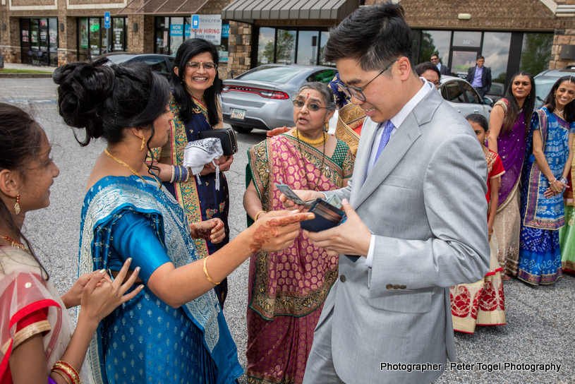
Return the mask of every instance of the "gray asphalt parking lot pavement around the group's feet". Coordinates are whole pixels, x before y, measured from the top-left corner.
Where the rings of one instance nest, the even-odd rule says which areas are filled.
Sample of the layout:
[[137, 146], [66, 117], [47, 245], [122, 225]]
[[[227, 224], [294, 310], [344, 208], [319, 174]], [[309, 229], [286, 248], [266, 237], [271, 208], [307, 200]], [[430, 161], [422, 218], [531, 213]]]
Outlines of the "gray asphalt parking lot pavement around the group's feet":
[[[54, 147], [54, 161], [61, 173], [52, 186], [49, 208], [30, 212], [25, 234], [50, 273], [56, 287], [71, 287], [77, 276], [80, 209], [87, 177], [104, 143], [85, 148], [73, 138], [56, 112], [55, 85], [49, 79], [0, 80], [1, 97], [20, 107], [33, 107]], [[30, 100], [18, 102], [14, 100]], [[39, 102], [38, 100], [52, 100]], [[246, 228], [242, 207], [246, 150], [263, 140], [265, 133], [238, 134], [239, 152], [226, 177], [230, 186], [230, 228], [234, 237]], [[83, 138], [80, 133], [80, 138]], [[229, 277], [229, 296], [224, 313], [236, 340], [238, 356], [246, 366], [246, 308], [248, 262]], [[448, 365], [435, 383], [575, 383], [575, 277], [565, 275], [551, 286], [531, 287], [518, 280], [504, 282], [507, 325], [478, 327], [474, 335], [456, 334], [459, 370]], [[522, 364], [503, 370], [504, 362]], [[473, 366], [471, 366], [473, 364]], [[560, 364], [559, 371], [541, 371], [533, 364]], [[380, 367], [374, 367], [379, 369]], [[466, 369], [473, 368], [473, 369]], [[382, 372], [382, 376], [385, 372]], [[240, 383], [246, 383], [243, 376]]]

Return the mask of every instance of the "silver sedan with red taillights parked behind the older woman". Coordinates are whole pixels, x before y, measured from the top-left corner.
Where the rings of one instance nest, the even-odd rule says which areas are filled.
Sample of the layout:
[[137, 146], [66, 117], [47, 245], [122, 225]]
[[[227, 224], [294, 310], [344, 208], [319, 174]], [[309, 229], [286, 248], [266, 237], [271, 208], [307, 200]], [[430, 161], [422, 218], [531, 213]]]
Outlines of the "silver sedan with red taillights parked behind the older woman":
[[224, 80], [224, 123], [239, 133], [293, 126], [291, 99], [298, 88], [309, 81], [329, 83], [336, 73], [329, 66], [265, 64]]

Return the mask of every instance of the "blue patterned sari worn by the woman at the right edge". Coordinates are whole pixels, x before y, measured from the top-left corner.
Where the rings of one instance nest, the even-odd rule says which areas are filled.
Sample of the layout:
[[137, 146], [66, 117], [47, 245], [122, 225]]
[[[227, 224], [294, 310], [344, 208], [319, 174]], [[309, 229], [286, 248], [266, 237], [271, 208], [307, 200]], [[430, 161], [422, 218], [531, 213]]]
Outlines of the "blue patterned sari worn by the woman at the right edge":
[[527, 138], [521, 191], [521, 238], [517, 277], [529, 284], [552, 284], [562, 275], [559, 231], [565, 224], [561, 193], [545, 198], [549, 181], [533, 155], [533, 135], [540, 134], [543, 152], [555, 178], [560, 179], [569, 156], [569, 124], [542, 107], [533, 112]]

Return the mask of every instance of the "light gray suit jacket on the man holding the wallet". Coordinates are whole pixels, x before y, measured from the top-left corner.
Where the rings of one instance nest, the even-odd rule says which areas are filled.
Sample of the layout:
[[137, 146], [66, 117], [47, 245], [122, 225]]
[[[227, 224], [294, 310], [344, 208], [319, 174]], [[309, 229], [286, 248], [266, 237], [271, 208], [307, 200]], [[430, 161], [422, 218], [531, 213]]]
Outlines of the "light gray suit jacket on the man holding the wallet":
[[[407, 116], [366, 178], [376, 129], [365, 120], [349, 185], [326, 192], [349, 198], [375, 232], [373, 266], [339, 257], [317, 329], [332, 326], [334, 368], [345, 383], [430, 382], [446, 357], [455, 361], [449, 287], [488, 272], [487, 164], [471, 126], [439, 92]], [[441, 366], [380, 370], [428, 362]]]

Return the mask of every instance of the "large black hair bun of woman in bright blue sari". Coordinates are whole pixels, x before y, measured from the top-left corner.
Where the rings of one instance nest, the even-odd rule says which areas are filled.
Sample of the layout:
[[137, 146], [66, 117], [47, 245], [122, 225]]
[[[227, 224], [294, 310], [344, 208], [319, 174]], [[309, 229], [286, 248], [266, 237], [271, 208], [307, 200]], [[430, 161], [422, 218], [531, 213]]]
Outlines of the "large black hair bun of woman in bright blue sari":
[[86, 129], [85, 144], [102, 136], [100, 111], [114, 89], [114, 70], [104, 62], [66, 64], [52, 74], [59, 113], [69, 126]]

